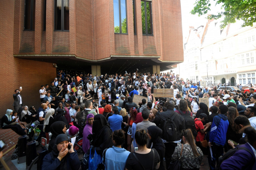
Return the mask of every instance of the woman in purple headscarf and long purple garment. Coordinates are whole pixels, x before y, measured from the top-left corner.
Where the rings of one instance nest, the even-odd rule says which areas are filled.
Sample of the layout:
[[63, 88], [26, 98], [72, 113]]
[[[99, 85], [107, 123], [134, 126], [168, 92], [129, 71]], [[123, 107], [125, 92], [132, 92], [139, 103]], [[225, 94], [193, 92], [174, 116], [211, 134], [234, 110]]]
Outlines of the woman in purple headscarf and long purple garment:
[[85, 128], [83, 128], [83, 152], [87, 152], [87, 150], [90, 148], [90, 141], [87, 139], [87, 136], [89, 134], [93, 134], [93, 121], [94, 121], [94, 115], [93, 114], [88, 114], [86, 117], [86, 125]]

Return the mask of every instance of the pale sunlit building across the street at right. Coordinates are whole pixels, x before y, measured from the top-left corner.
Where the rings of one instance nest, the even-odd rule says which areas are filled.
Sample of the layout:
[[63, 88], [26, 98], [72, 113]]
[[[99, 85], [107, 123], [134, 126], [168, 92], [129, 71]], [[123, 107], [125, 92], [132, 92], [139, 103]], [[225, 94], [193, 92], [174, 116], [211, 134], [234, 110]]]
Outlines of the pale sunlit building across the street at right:
[[194, 82], [208, 80], [209, 85], [255, 85], [256, 25], [241, 27], [241, 21], [224, 29], [219, 25], [217, 20], [208, 20], [204, 26], [191, 27], [184, 44], [184, 63], [178, 65], [178, 70], [191, 72], [181, 76]]

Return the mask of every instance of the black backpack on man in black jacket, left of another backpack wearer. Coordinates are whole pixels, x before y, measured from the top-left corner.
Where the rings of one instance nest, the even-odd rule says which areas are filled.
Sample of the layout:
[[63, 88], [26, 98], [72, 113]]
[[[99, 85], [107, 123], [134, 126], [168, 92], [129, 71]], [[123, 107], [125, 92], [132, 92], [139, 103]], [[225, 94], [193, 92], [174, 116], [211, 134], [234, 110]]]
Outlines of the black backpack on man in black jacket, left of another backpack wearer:
[[163, 122], [163, 137], [167, 142], [173, 142], [177, 141], [177, 126], [175, 122], [173, 121], [175, 117], [178, 115], [178, 113], [174, 113], [171, 118], [165, 118], [161, 116], [161, 114], [158, 114], [158, 116], [164, 120]]

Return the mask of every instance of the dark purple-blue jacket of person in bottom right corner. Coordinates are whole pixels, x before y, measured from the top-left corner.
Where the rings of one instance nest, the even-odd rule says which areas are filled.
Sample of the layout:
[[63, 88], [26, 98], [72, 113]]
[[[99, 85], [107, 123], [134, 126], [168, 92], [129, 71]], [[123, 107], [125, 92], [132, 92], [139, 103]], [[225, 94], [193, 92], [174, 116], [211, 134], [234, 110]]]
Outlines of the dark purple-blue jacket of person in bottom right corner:
[[255, 154], [249, 143], [244, 145], [239, 145], [238, 147], [246, 147], [253, 156], [248, 153], [246, 150], [237, 150], [232, 156], [228, 159], [224, 160], [221, 164], [222, 170], [232, 170], [232, 169], [243, 169], [243, 170], [251, 170], [256, 169], [256, 158]]

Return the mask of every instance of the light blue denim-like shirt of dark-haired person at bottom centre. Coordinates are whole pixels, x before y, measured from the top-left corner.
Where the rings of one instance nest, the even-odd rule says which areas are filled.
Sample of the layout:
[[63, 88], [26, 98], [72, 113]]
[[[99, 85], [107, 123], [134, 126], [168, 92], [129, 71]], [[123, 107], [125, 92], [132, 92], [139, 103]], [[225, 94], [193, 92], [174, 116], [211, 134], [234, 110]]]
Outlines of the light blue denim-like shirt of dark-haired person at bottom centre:
[[106, 151], [105, 170], [125, 169], [125, 163], [129, 154], [130, 152], [124, 148], [112, 146]]

